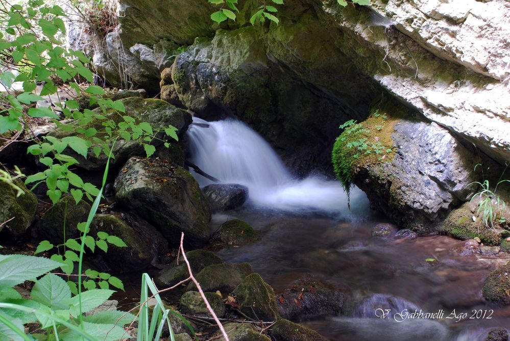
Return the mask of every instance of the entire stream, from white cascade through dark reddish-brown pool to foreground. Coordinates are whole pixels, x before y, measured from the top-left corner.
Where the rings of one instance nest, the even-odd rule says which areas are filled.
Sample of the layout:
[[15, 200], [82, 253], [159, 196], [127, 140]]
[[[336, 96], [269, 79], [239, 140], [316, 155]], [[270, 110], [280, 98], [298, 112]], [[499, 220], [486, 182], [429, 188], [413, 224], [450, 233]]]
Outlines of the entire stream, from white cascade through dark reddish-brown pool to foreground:
[[[385, 221], [358, 189], [351, 193], [349, 211], [337, 181], [294, 179], [270, 145], [244, 123], [193, 122], [191, 161], [223, 183], [249, 188], [249, 201], [214, 215], [211, 230], [235, 217], [261, 234], [260, 242], [225, 248], [218, 255], [229, 262], [248, 261], [276, 292], [311, 274], [349, 293], [342, 314], [305, 325], [345, 341], [483, 341], [491, 328], [510, 329], [510, 308], [491, 305], [481, 296], [484, 278], [509, 255], [461, 255], [464, 242], [439, 235], [371, 237], [371, 227]], [[211, 182], [195, 176], [202, 186]], [[420, 311], [435, 316], [420, 317]]]

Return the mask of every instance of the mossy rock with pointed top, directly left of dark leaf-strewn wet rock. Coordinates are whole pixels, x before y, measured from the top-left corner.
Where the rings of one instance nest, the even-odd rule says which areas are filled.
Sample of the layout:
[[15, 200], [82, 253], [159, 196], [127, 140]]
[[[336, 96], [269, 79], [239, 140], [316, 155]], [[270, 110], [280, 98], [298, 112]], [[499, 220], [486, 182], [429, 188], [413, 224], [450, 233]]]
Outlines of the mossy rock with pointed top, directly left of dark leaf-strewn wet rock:
[[273, 288], [259, 274], [246, 276], [233, 294], [240, 310], [255, 320], [275, 321], [280, 317]]

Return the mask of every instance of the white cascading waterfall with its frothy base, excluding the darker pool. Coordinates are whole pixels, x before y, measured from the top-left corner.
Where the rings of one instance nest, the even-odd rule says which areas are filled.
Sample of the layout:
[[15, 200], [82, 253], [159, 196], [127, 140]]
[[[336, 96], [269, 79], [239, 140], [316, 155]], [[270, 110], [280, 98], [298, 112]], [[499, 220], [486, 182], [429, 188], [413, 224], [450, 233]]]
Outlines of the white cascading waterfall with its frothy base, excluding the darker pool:
[[[293, 178], [269, 143], [245, 123], [233, 119], [207, 122], [197, 117], [193, 123], [187, 132], [189, 160], [221, 183], [248, 187], [254, 204], [285, 210], [347, 210], [347, 196], [338, 181], [315, 176]], [[191, 173], [201, 186], [213, 183]], [[361, 191], [355, 189], [351, 193], [354, 197], [368, 205]]]

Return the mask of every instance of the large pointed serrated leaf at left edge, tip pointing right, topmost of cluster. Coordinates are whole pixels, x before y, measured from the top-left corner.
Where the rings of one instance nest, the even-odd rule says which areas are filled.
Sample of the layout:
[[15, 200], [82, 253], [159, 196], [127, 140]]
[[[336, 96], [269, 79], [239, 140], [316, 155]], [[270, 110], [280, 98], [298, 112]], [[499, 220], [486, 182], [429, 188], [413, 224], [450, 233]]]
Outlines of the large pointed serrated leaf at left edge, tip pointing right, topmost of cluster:
[[21, 254], [0, 255], [0, 286], [9, 286], [35, 279], [55, 268], [60, 267], [60, 263], [54, 260], [25, 256]]

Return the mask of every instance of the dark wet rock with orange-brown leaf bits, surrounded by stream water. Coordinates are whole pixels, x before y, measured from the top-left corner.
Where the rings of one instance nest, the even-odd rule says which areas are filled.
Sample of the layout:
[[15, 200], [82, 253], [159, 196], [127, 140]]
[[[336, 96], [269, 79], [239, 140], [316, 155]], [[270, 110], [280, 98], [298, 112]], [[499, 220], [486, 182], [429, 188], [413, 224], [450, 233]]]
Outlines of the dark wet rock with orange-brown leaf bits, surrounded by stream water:
[[277, 295], [276, 304], [284, 319], [301, 321], [337, 315], [342, 311], [344, 300], [345, 294], [339, 288], [307, 275]]

